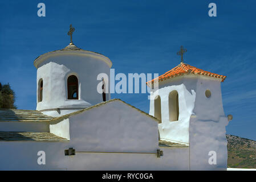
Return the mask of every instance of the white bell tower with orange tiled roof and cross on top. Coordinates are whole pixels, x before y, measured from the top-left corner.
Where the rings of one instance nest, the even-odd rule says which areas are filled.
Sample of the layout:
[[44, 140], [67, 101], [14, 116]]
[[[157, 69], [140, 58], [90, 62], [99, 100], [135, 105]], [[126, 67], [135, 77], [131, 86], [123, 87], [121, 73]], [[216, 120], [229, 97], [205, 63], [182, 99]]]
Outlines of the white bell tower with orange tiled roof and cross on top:
[[[221, 82], [226, 76], [181, 63], [154, 80], [159, 89], [151, 92], [149, 114], [159, 118], [160, 139], [190, 147], [190, 169], [221, 169], [227, 165], [226, 128]], [[209, 152], [217, 164], [208, 163]]]

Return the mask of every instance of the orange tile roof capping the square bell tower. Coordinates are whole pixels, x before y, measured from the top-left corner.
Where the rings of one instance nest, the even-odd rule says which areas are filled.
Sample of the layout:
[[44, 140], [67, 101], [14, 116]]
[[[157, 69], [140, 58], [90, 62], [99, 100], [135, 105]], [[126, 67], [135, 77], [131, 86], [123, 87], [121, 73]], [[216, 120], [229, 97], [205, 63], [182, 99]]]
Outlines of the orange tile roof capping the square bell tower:
[[164, 81], [168, 78], [173, 78], [173, 77], [176, 77], [176, 76], [181, 76], [181, 75], [184, 75], [184, 74], [194, 74], [194, 75], [205, 75], [205, 76], [210, 76], [210, 77], [216, 77], [216, 78], [221, 78], [222, 81], [225, 80], [226, 76], [223, 76], [223, 75], [218, 75], [216, 73], [211, 73], [211, 72], [207, 72], [207, 71], [204, 71], [202, 69], [198, 69], [196, 67], [192, 67], [191, 65], [189, 64], [185, 64], [185, 63], [181, 63], [179, 65], [177, 65], [177, 67], [171, 69], [170, 71], [164, 73], [164, 75], [161, 75], [151, 81], [148, 81], [147, 84], [149, 82], [152, 82], [152, 81], [156, 81], [157, 79], [160, 81]]

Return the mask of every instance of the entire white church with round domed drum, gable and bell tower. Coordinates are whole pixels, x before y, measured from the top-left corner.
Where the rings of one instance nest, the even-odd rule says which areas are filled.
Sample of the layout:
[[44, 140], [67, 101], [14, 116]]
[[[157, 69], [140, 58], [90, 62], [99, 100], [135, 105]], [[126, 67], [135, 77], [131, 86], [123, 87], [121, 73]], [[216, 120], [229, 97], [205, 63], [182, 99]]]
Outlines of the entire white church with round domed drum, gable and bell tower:
[[76, 47], [73, 31], [34, 61], [36, 110], [0, 109], [0, 170], [226, 170], [226, 76], [181, 59], [147, 83], [159, 83], [148, 114], [97, 92], [112, 62]]

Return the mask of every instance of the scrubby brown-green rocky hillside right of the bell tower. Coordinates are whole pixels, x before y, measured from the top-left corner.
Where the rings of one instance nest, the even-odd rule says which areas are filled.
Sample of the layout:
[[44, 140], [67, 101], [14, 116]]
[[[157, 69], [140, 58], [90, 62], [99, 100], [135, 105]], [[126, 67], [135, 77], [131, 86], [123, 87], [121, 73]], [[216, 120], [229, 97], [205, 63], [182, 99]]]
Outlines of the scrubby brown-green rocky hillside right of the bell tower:
[[227, 138], [227, 167], [256, 168], [256, 141], [234, 135]]

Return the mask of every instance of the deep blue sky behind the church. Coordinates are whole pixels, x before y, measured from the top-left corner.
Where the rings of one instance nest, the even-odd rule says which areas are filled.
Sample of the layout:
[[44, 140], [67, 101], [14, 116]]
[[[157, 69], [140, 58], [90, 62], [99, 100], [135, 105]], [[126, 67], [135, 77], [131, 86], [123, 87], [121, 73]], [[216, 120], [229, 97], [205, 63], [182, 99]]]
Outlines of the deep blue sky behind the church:
[[[46, 17], [38, 17], [38, 3]], [[208, 5], [217, 5], [209, 17]], [[227, 133], [256, 140], [255, 1], [1, 1], [0, 82], [14, 89], [18, 109], [36, 107], [36, 68], [43, 53], [69, 43], [112, 60], [116, 73], [159, 73], [185, 63], [226, 75]], [[112, 94], [146, 112], [147, 94]]]

